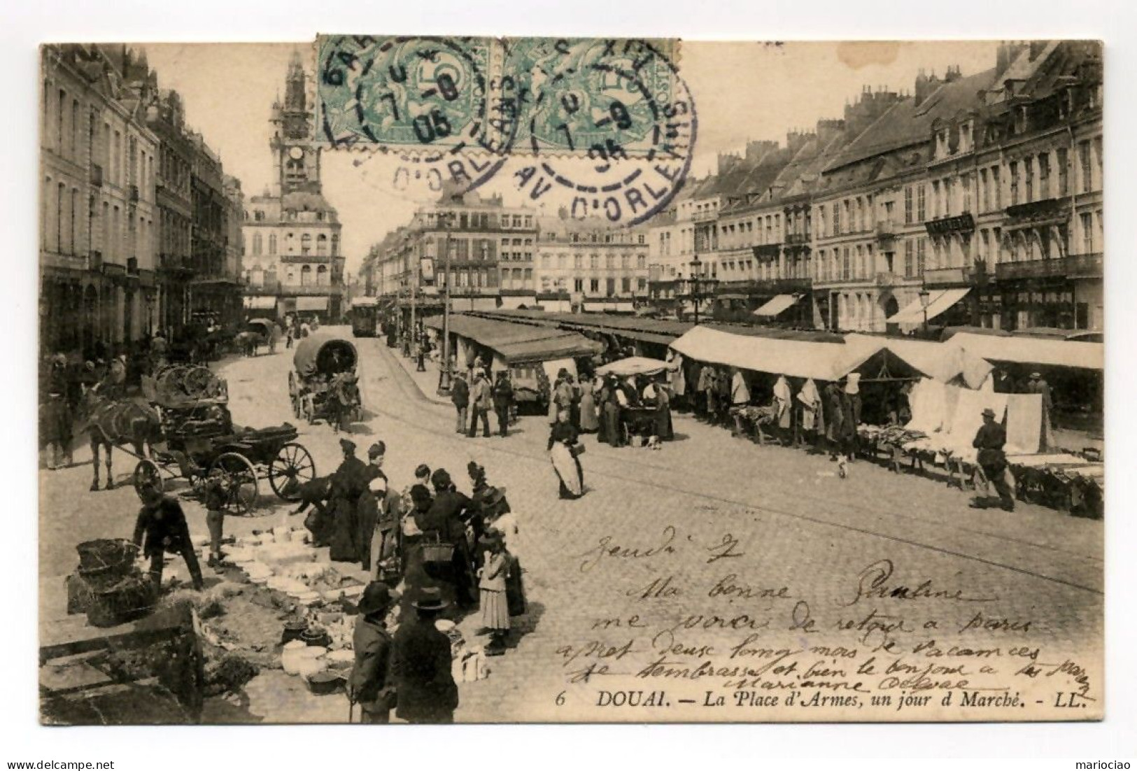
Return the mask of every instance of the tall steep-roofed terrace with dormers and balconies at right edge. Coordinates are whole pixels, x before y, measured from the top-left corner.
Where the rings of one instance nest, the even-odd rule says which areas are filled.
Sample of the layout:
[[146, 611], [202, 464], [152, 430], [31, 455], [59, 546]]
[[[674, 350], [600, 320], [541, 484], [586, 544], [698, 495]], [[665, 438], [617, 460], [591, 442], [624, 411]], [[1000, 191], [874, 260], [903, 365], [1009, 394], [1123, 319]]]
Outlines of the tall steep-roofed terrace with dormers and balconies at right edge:
[[825, 169], [832, 328], [1101, 328], [1099, 48], [1007, 43], [995, 64], [921, 74]]

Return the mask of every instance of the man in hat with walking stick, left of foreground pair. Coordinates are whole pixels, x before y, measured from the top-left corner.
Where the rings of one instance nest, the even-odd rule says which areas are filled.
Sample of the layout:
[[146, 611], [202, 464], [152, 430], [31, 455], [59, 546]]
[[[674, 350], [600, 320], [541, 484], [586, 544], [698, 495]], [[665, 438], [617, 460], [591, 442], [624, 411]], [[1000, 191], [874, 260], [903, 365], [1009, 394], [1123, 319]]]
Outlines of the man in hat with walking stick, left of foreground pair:
[[395, 682], [391, 679], [391, 633], [387, 631], [387, 614], [398, 595], [385, 583], [374, 581], [359, 599], [351, 648], [356, 661], [348, 680], [349, 698], [359, 705], [362, 722], [391, 722], [395, 706]]

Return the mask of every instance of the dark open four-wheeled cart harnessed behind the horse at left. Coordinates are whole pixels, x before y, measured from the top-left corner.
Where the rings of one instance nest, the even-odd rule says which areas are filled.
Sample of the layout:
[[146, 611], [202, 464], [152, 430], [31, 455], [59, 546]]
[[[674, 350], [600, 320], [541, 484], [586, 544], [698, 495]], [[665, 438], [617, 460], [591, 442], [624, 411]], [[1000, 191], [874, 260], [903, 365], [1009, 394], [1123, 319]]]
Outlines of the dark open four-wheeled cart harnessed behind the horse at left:
[[267, 480], [277, 497], [297, 500], [300, 486], [315, 478], [316, 466], [312, 454], [296, 441], [296, 428], [289, 423], [266, 429], [233, 425], [224, 381], [206, 372], [213, 380], [197, 375], [200, 388], [192, 392], [164, 389], [160, 376], [157, 388], [153, 382], [143, 387], [161, 430], [160, 440], [150, 442], [149, 457], [119, 445], [139, 458], [135, 490], [146, 484], [163, 489], [166, 479], [175, 478], [197, 487], [216, 471], [229, 492], [226, 507], [234, 514], [254, 509], [259, 480]]

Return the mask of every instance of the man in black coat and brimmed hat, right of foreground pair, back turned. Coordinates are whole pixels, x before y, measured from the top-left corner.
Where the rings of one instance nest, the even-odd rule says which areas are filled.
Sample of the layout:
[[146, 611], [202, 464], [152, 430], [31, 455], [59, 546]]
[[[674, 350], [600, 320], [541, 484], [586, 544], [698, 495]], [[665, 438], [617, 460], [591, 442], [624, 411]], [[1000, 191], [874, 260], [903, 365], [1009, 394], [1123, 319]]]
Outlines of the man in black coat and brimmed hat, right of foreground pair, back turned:
[[413, 605], [416, 617], [395, 632], [395, 714], [408, 723], [453, 723], [458, 686], [450, 670], [450, 638], [434, 627], [447, 603], [437, 588], [426, 588]]

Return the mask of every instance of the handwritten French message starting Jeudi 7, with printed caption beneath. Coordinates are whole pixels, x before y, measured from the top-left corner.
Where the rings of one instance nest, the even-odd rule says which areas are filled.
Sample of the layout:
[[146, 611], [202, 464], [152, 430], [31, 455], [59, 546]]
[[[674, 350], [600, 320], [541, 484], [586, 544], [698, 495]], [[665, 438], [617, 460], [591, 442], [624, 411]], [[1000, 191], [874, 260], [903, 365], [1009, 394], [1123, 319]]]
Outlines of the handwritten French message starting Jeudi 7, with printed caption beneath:
[[591, 603], [603, 612], [557, 641], [557, 703], [621, 712], [598, 714], [606, 720], [1102, 713], [1099, 658], [1081, 657], [1055, 633], [1048, 608], [1011, 582], [944, 577], [890, 556], [787, 579], [772, 565], [792, 555], [772, 556], [731, 532], [677, 525], [586, 545], [573, 572], [604, 587]]

